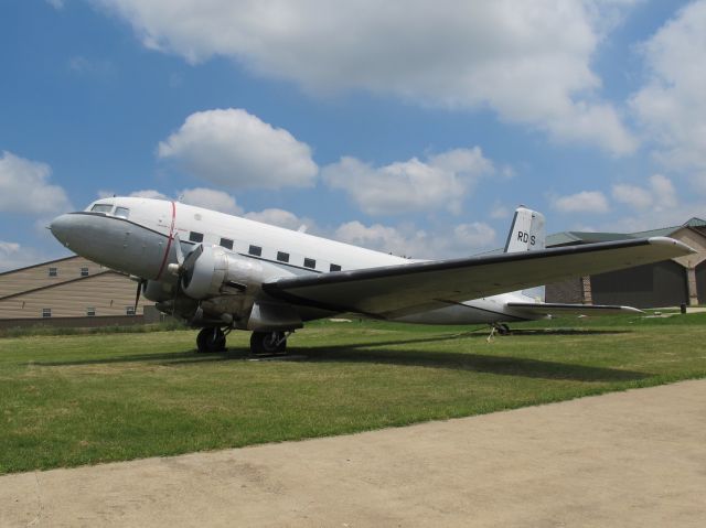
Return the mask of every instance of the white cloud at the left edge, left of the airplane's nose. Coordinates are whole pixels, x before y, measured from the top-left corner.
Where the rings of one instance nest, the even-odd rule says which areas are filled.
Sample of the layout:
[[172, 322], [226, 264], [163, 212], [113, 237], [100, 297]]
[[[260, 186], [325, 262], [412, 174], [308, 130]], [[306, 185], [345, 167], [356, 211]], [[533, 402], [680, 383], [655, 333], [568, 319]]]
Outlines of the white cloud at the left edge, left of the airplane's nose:
[[46, 163], [3, 151], [0, 157], [0, 212], [51, 215], [73, 209], [66, 192], [49, 183]]

